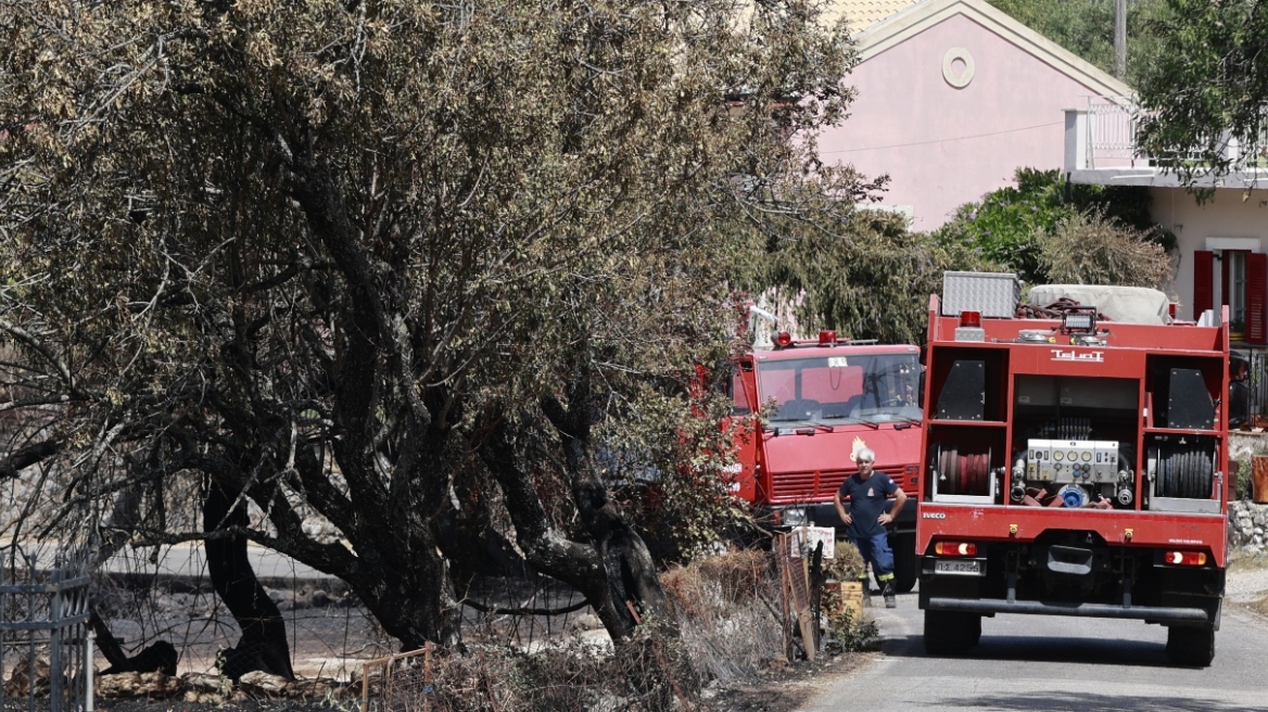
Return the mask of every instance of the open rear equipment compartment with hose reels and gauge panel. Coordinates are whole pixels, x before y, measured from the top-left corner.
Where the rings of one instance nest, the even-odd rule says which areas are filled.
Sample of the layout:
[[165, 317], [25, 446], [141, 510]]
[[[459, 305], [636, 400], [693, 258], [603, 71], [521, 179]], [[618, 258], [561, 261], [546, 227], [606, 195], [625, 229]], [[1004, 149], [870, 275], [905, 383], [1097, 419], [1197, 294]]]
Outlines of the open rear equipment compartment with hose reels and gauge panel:
[[[999, 357], [955, 359], [937, 374], [924, 492], [933, 502], [1220, 511], [1221, 441], [1212, 427], [1208, 380], [1220, 362], [1151, 357], [1141, 379], [1017, 374], [1011, 442], [995, 428], [961, 424], [999, 418], [1008, 395], [987, 374]], [[1144, 385], [1144, 389], [1141, 388]], [[1183, 432], [1187, 431], [1187, 432]]]

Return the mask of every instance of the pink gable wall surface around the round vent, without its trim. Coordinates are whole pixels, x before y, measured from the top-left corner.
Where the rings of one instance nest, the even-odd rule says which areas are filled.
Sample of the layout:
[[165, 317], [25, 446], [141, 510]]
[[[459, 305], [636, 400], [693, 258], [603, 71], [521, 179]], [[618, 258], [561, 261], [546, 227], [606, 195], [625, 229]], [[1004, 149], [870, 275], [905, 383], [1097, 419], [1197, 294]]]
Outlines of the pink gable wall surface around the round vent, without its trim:
[[[974, 65], [961, 89], [943, 77], [952, 48], [967, 49]], [[962, 72], [952, 67], [952, 77]], [[846, 81], [858, 98], [850, 118], [820, 136], [820, 156], [889, 174], [885, 205], [910, 207], [919, 231], [1009, 185], [1018, 167], [1060, 168], [1063, 110], [1096, 94], [964, 15], [866, 60]]]

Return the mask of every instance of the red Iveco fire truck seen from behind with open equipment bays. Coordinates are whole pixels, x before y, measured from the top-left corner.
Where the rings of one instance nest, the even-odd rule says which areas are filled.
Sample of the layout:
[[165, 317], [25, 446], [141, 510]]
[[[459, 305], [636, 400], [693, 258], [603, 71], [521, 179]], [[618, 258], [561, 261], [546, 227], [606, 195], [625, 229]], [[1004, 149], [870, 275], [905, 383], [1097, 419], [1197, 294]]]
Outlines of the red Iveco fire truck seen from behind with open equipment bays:
[[1161, 313], [1074, 296], [1047, 318], [983, 318], [980, 290], [959, 294], [929, 303], [926, 649], [967, 650], [983, 616], [1088, 616], [1167, 626], [1169, 659], [1208, 665], [1232, 489], [1227, 313], [1178, 323], [1154, 293]]

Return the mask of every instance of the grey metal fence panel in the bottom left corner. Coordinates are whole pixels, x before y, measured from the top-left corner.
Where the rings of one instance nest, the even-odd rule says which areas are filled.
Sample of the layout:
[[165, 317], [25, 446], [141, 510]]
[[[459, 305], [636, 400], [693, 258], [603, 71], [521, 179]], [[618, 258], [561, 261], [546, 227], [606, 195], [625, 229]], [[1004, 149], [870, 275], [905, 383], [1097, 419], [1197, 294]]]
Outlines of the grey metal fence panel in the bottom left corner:
[[[90, 712], [85, 650], [89, 576], [38, 571], [16, 547], [0, 550], [0, 679], [5, 709]], [[23, 701], [25, 704], [23, 704]], [[14, 706], [14, 702], [16, 704]]]

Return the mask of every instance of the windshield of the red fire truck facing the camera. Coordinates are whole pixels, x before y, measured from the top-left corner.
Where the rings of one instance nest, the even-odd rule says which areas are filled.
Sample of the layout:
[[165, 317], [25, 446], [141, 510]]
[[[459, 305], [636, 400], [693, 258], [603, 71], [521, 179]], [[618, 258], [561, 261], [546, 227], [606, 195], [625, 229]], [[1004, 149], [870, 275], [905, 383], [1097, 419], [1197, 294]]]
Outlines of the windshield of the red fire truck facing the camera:
[[757, 390], [775, 402], [771, 422], [919, 421], [919, 370], [914, 353], [768, 360], [757, 364]]

